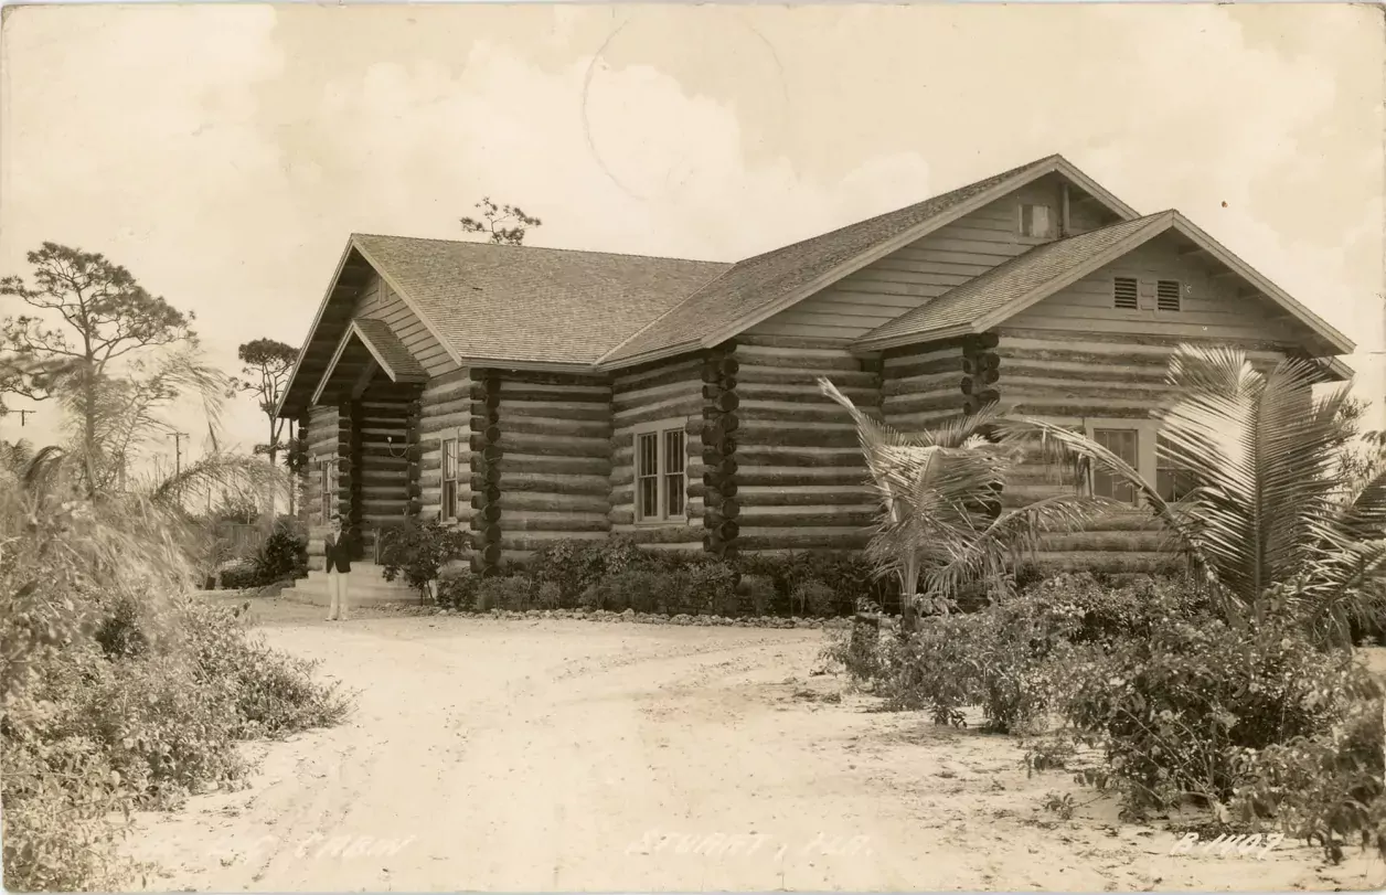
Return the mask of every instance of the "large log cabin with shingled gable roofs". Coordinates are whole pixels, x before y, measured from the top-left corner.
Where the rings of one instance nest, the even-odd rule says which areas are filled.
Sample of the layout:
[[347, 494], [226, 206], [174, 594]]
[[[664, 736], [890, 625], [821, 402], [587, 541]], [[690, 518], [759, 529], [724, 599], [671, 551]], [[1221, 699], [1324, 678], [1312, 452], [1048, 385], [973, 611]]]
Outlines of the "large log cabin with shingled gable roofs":
[[[847, 414], [905, 431], [1003, 402], [1078, 427], [1161, 489], [1152, 411], [1181, 342], [1350, 370], [1353, 342], [1177, 211], [1141, 215], [1059, 155], [736, 263], [353, 234], [277, 413], [309, 450], [320, 554], [414, 520], [491, 572], [554, 539], [859, 549], [876, 506]], [[1102, 477], [1023, 466], [1015, 504]], [[1142, 571], [1146, 514], [1040, 560]], [[320, 564], [320, 557], [315, 557]]]

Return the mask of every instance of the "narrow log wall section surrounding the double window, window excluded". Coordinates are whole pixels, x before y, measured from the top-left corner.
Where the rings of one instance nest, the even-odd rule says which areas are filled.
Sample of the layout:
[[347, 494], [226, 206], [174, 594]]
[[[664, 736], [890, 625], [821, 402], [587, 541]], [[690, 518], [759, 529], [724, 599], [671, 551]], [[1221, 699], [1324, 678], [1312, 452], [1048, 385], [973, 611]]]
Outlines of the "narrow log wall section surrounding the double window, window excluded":
[[[613, 533], [660, 550], [701, 551], [703, 475], [703, 357], [682, 356], [621, 370], [611, 381], [611, 470], [607, 520]], [[635, 521], [635, 432], [644, 423], [683, 423], [687, 466], [685, 518], [668, 522]]]

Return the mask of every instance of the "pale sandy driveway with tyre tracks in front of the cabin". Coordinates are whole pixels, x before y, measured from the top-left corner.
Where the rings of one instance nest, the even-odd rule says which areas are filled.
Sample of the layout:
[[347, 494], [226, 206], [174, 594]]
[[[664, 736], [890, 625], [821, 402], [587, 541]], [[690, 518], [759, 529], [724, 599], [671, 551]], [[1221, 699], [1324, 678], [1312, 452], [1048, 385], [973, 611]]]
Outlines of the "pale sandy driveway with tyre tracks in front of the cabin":
[[[816, 630], [489, 621], [258, 600], [358, 689], [341, 727], [252, 744], [248, 788], [143, 815], [148, 889], [1362, 889], [1354, 853], [1174, 853], [1015, 740], [832, 701]], [[825, 700], [826, 697], [826, 700]], [[1049, 791], [1084, 804], [1042, 809]]]

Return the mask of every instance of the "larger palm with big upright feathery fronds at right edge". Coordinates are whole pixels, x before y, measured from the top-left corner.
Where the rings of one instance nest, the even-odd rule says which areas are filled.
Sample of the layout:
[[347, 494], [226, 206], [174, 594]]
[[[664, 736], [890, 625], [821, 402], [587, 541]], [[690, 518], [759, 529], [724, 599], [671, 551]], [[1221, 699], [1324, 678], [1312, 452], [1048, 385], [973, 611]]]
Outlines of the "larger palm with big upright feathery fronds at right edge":
[[1386, 603], [1386, 471], [1344, 482], [1349, 387], [1315, 399], [1317, 378], [1308, 360], [1263, 373], [1238, 349], [1181, 346], [1168, 373], [1179, 396], [1160, 414], [1160, 452], [1198, 482], [1178, 502], [1081, 434], [1033, 418], [998, 431], [1055, 442], [1130, 482], [1229, 623], [1288, 611], [1342, 643]]

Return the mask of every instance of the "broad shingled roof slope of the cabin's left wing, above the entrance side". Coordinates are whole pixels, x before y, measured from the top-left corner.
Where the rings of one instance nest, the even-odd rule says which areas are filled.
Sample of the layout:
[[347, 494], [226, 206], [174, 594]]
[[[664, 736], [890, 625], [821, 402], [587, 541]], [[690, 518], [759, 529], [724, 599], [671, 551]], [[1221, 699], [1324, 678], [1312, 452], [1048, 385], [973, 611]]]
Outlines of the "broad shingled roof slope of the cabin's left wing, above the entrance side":
[[592, 364], [729, 265], [353, 234], [464, 359]]

